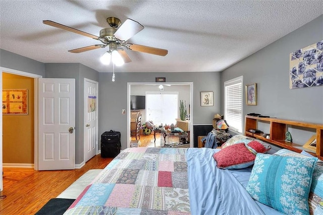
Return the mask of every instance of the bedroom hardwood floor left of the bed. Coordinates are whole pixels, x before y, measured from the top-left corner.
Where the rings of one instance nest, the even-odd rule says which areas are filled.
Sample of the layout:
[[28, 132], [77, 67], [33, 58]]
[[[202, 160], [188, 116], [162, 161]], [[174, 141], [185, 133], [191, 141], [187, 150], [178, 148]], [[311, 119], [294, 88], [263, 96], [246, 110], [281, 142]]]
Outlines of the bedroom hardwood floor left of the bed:
[[35, 214], [49, 199], [56, 198], [91, 169], [103, 169], [113, 158], [94, 156], [81, 169], [35, 171], [31, 168], [3, 168], [4, 191], [0, 214]]

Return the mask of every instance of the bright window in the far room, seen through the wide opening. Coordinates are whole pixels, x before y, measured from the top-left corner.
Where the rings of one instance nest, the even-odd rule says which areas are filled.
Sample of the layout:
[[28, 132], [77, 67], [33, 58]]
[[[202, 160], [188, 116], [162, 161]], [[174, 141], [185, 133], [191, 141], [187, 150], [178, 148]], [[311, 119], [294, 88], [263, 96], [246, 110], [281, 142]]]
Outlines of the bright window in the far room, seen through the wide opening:
[[176, 124], [178, 92], [146, 92], [146, 120], [154, 125]]

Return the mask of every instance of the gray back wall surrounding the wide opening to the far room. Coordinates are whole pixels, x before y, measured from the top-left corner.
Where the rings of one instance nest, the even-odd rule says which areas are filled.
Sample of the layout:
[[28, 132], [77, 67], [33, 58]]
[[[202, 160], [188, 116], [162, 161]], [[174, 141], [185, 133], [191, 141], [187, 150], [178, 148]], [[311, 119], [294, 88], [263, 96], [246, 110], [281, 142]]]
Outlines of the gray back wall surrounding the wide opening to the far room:
[[[212, 124], [215, 113], [220, 112], [220, 73], [99, 73], [99, 134], [104, 131], [121, 132], [122, 149], [127, 147], [127, 110], [128, 82], [155, 82], [156, 77], [166, 77], [166, 82], [193, 82], [193, 124]], [[214, 105], [200, 106], [200, 92], [213, 91]]]

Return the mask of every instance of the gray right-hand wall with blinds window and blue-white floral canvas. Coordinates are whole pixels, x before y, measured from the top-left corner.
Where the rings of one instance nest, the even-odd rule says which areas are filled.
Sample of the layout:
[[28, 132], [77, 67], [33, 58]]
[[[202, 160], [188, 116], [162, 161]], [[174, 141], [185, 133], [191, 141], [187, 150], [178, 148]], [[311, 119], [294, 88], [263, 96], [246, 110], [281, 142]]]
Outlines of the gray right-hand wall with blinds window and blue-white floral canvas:
[[[246, 105], [243, 93], [243, 116], [259, 113], [287, 120], [323, 123], [323, 87], [289, 89], [289, 54], [320, 40], [323, 40], [323, 15], [223, 71], [221, 94], [224, 94], [225, 81], [243, 75], [244, 85], [257, 83], [258, 97], [256, 106]], [[221, 98], [223, 101], [223, 96]]]

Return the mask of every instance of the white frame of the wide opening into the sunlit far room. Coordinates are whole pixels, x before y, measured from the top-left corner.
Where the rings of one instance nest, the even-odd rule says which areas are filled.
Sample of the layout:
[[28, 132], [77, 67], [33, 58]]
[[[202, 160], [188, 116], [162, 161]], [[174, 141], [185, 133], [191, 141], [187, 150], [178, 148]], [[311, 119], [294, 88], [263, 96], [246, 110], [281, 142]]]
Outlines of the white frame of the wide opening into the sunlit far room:
[[[194, 134], [193, 134], [193, 82], [166, 82], [162, 84], [170, 85], [189, 85], [190, 86], [190, 147], [194, 147]], [[156, 85], [156, 82], [128, 82], [127, 83], [127, 148], [130, 147], [131, 135], [130, 135], [130, 93], [131, 85]]]

